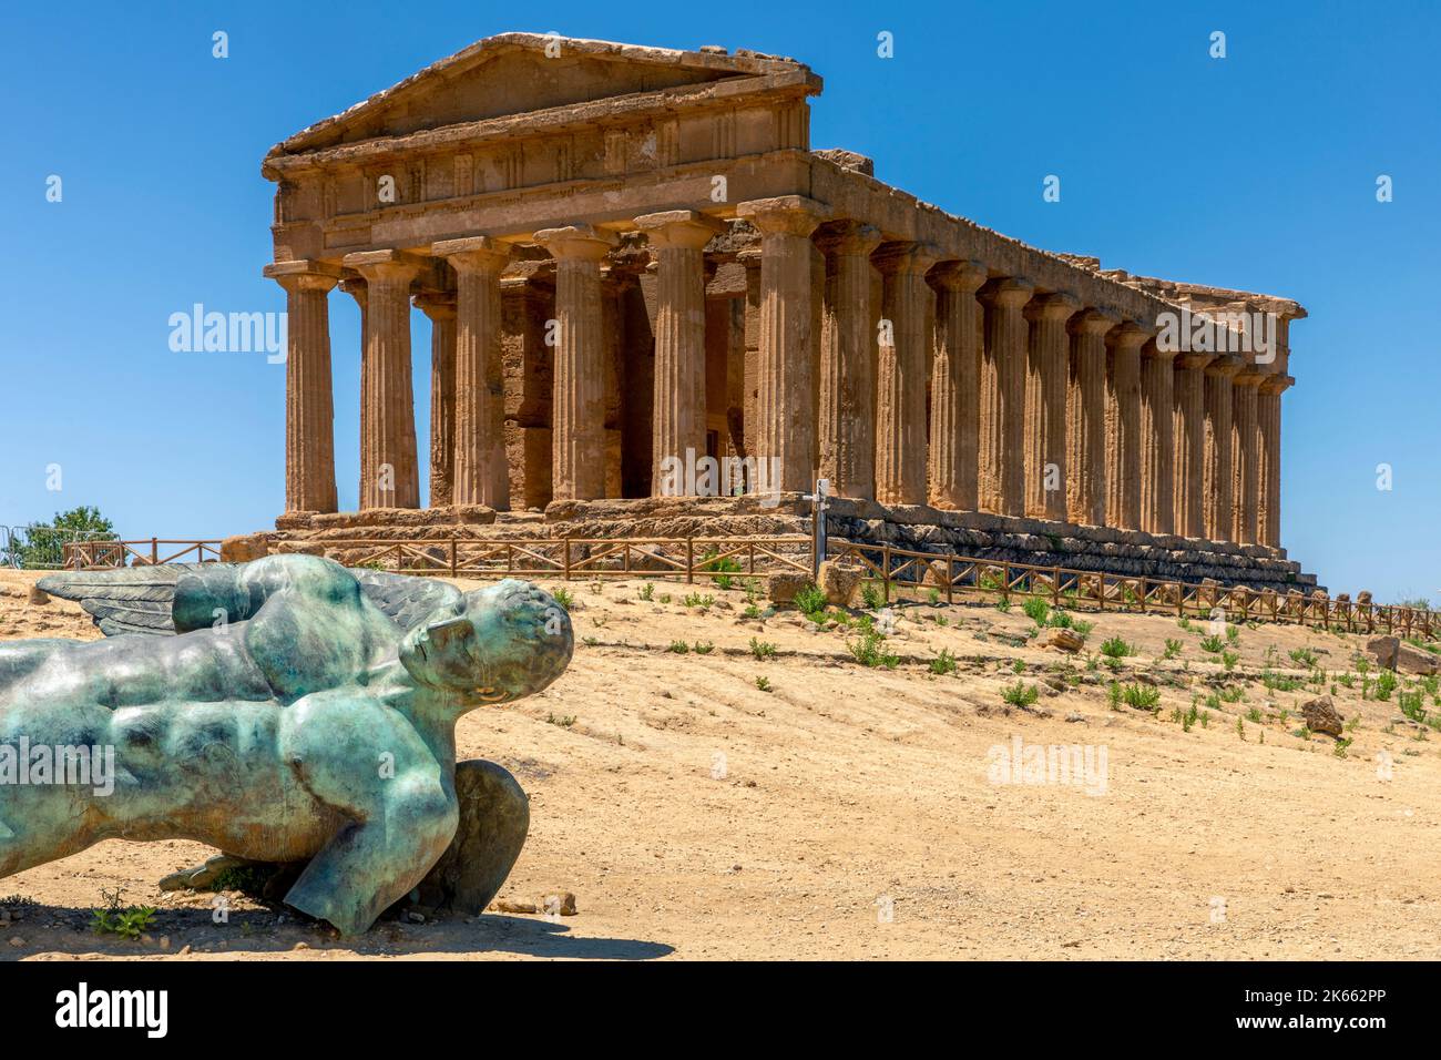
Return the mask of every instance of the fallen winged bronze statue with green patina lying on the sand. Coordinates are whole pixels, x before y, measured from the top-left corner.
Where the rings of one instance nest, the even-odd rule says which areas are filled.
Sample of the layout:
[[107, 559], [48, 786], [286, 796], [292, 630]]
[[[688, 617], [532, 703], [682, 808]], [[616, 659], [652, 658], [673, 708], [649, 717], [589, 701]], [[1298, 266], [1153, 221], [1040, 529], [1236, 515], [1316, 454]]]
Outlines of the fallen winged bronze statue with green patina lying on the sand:
[[[454, 877], [438, 862], [487, 826], [457, 838], [457, 720], [539, 692], [574, 649], [565, 609], [512, 580], [461, 593], [274, 555], [40, 586], [107, 639], [0, 643], [0, 878], [102, 839], [195, 839], [304, 862], [285, 904], [344, 935]], [[499, 888], [525, 796], [494, 766], [465, 777], [471, 805], [504, 803]]]

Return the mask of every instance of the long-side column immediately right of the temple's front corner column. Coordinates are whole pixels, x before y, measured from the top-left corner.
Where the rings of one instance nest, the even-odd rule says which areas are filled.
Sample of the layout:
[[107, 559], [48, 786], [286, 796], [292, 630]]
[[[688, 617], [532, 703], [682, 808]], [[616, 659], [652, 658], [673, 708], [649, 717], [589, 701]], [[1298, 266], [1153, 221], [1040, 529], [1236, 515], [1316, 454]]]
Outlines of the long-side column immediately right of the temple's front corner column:
[[870, 252], [880, 232], [859, 221], [827, 225], [816, 237], [826, 255], [820, 352], [820, 477], [843, 498], [876, 496], [876, 350], [870, 307]]

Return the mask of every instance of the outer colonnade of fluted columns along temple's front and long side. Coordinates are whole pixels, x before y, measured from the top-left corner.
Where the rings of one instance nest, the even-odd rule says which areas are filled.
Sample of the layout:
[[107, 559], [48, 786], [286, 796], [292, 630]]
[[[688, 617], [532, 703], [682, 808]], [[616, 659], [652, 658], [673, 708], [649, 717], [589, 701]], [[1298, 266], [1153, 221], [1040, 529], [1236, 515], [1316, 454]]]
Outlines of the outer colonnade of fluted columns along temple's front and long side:
[[[883, 242], [801, 196], [741, 203], [738, 215], [761, 234], [745, 423], [761, 489], [803, 490], [818, 472], [842, 496], [886, 505], [1278, 544], [1287, 376], [1235, 356], [1167, 353], [1137, 322], [941, 260], [928, 244]], [[666, 457], [705, 453], [703, 248], [722, 225], [695, 211], [635, 224], [657, 262], [659, 492]], [[601, 498], [601, 265], [617, 238], [571, 225], [533, 241], [556, 261], [552, 496]], [[432, 503], [509, 506], [500, 275], [510, 251], [486, 237], [429, 248], [457, 275], [454, 297], [416, 299], [434, 336]], [[365, 336], [362, 508], [419, 502], [409, 299], [421, 264], [403, 251], [343, 260], [363, 280], [342, 284]], [[267, 274], [290, 310], [287, 509], [334, 511], [326, 296], [342, 270], [285, 262]]]

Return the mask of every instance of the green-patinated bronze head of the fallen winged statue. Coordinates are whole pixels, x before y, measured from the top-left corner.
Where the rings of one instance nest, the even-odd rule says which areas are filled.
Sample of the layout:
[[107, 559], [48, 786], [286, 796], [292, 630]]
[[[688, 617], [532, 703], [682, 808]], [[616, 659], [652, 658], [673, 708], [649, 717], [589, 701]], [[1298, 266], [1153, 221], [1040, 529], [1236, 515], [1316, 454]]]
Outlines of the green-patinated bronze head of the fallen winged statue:
[[468, 710], [539, 692], [565, 672], [574, 648], [571, 616], [555, 597], [506, 578], [416, 623], [401, 642], [401, 663]]

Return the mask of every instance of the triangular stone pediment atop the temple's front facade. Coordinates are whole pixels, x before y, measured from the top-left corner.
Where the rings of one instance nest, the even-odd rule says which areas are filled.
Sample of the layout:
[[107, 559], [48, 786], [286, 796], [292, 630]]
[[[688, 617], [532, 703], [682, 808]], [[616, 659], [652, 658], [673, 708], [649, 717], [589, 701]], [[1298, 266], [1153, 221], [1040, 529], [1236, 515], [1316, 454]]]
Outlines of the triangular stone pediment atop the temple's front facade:
[[[757, 81], [758, 79], [758, 81]], [[793, 59], [535, 33], [487, 37], [277, 144], [271, 159], [723, 81], [820, 79]]]

